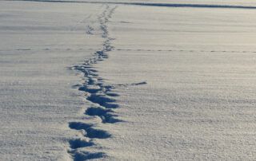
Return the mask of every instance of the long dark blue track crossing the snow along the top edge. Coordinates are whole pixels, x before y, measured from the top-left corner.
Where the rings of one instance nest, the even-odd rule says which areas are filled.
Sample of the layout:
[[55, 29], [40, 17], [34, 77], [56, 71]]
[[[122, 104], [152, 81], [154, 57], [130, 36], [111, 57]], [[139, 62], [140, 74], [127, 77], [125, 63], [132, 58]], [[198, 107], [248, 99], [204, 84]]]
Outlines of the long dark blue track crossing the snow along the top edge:
[[95, 3], [113, 5], [133, 5], [133, 6], [162, 6], [162, 7], [190, 7], [190, 8], [226, 8], [226, 9], [246, 9], [255, 10], [256, 6], [233, 6], [233, 5], [210, 5], [210, 4], [180, 4], [180, 3], [150, 3], [150, 2], [90, 2], [90, 1], [64, 1], [64, 0], [4, 0], [4, 1], [23, 1], [23, 2], [66, 2], [66, 3]]

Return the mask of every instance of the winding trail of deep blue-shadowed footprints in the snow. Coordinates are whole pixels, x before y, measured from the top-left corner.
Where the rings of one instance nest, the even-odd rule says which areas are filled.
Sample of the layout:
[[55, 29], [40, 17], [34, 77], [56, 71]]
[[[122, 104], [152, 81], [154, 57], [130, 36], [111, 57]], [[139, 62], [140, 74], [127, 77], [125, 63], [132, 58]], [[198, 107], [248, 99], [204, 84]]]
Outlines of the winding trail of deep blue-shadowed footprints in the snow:
[[[114, 108], [118, 108], [118, 104], [114, 104], [114, 96], [118, 96], [117, 93], [111, 92], [114, 88], [111, 85], [105, 85], [103, 79], [98, 76], [98, 71], [93, 68], [92, 65], [103, 61], [108, 58], [108, 52], [114, 47], [111, 45], [111, 41], [114, 40], [109, 36], [107, 22], [114, 14], [116, 7], [106, 6], [106, 9], [98, 16], [98, 22], [100, 24], [101, 36], [104, 38], [102, 50], [98, 50], [94, 53], [94, 57], [85, 61], [83, 65], [75, 65], [73, 69], [76, 69], [84, 74], [85, 82], [78, 90], [86, 92], [86, 100], [90, 101], [93, 107], [87, 108], [85, 114], [88, 116], [98, 116], [102, 120], [102, 124], [114, 124], [122, 121], [118, 120], [117, 115], [114, 113]], [[94, 29], [90, 27], [91, 32], [88, 34], [94, 34]], [[70, 122], [69, 127], [74, 130], [80, 131], [80, 135], [74, 139], [70, 139], [70, 150], [68, 151], [75, 161], [85, 159], [98, 159], [106, 157], [106, 153], [89, 151], [82, 151], [82, 147], [94, 146], [93, 139], [107, 139], [111, 137], [110, 132], [106, 132], [96, 128], [97, 124], [86, 124], [82, 121]]]

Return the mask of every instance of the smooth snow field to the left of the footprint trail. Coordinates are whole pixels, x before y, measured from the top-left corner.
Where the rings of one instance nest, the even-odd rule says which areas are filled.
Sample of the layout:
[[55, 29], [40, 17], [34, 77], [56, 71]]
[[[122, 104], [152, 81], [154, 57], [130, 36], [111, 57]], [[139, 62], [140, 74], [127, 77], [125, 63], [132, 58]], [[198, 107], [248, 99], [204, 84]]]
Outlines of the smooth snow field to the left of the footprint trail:
[[101, 37], [86, 34], [88, 22], [102, 10], [101, 5], [0, 2], [1, 161], [71, 160], [70, 143], [91, 144], [74, 140], [77, 132], [69, 128], [90, 106], [72, 88], [82, 76], [69, 67], [102, 48]]

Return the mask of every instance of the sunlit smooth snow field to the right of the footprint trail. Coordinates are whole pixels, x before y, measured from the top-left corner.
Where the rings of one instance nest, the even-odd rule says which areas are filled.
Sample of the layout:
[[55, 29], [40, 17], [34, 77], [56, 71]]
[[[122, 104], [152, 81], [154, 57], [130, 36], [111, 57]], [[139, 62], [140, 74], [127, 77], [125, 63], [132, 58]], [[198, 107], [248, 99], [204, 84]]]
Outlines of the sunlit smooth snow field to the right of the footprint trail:
[[[132, 12], [130, 12], [132, 10]], [[110, 58], [117, 160], [254, 160], [256, 10], [118, 6]]]

